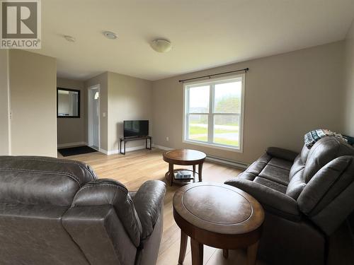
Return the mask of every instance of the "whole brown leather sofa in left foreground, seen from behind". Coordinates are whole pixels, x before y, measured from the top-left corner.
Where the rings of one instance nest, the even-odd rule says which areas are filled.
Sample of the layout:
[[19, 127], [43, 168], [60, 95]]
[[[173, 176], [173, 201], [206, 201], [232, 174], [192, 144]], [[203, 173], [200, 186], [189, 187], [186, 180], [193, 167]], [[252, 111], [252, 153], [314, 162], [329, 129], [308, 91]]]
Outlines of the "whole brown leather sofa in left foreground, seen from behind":
[[88, 165], [0, 156], [0, 264], [152, 265], [164, 182], [128, 192]]

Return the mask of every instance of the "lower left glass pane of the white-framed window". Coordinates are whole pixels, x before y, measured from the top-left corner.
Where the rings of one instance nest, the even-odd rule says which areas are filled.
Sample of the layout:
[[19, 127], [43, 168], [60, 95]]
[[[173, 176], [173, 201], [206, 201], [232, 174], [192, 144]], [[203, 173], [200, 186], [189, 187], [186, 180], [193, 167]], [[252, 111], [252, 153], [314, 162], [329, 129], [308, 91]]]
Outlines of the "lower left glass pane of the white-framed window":
[[206, 114], [190, 114], [188, 139], [194, 141], [207, 141], [207, 115]]

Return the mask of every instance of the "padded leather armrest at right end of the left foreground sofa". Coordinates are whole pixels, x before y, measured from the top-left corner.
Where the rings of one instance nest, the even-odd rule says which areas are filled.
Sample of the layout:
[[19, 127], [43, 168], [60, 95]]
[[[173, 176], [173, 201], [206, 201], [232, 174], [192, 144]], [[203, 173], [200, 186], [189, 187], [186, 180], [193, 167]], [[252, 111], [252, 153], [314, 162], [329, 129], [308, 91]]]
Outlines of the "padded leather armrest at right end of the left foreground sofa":
[[164, 205], [166, 185], [159, 180], [149, 180], [133, 196], [137, 215], [142, 223], [142, 240], [149, 237]]

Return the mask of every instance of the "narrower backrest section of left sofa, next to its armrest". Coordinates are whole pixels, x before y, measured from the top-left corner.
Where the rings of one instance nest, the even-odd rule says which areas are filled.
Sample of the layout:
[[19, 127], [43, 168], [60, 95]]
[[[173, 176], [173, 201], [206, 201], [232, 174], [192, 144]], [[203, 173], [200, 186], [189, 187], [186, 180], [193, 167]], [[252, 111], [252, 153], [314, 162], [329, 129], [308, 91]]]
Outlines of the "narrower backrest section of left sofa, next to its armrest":
[[142, 224], [127, 188], [96, 179], [76, 193], [62, 224], [91, 265], [133, 265]]

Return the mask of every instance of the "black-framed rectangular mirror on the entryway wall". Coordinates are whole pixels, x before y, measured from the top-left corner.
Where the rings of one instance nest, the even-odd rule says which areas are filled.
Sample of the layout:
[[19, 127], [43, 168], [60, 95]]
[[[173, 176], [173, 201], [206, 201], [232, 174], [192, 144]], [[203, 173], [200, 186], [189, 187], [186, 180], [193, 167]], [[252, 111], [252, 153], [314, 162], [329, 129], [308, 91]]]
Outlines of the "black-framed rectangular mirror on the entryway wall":
[[57, 88], [57, 117], [80, 117], [80, 90]]

